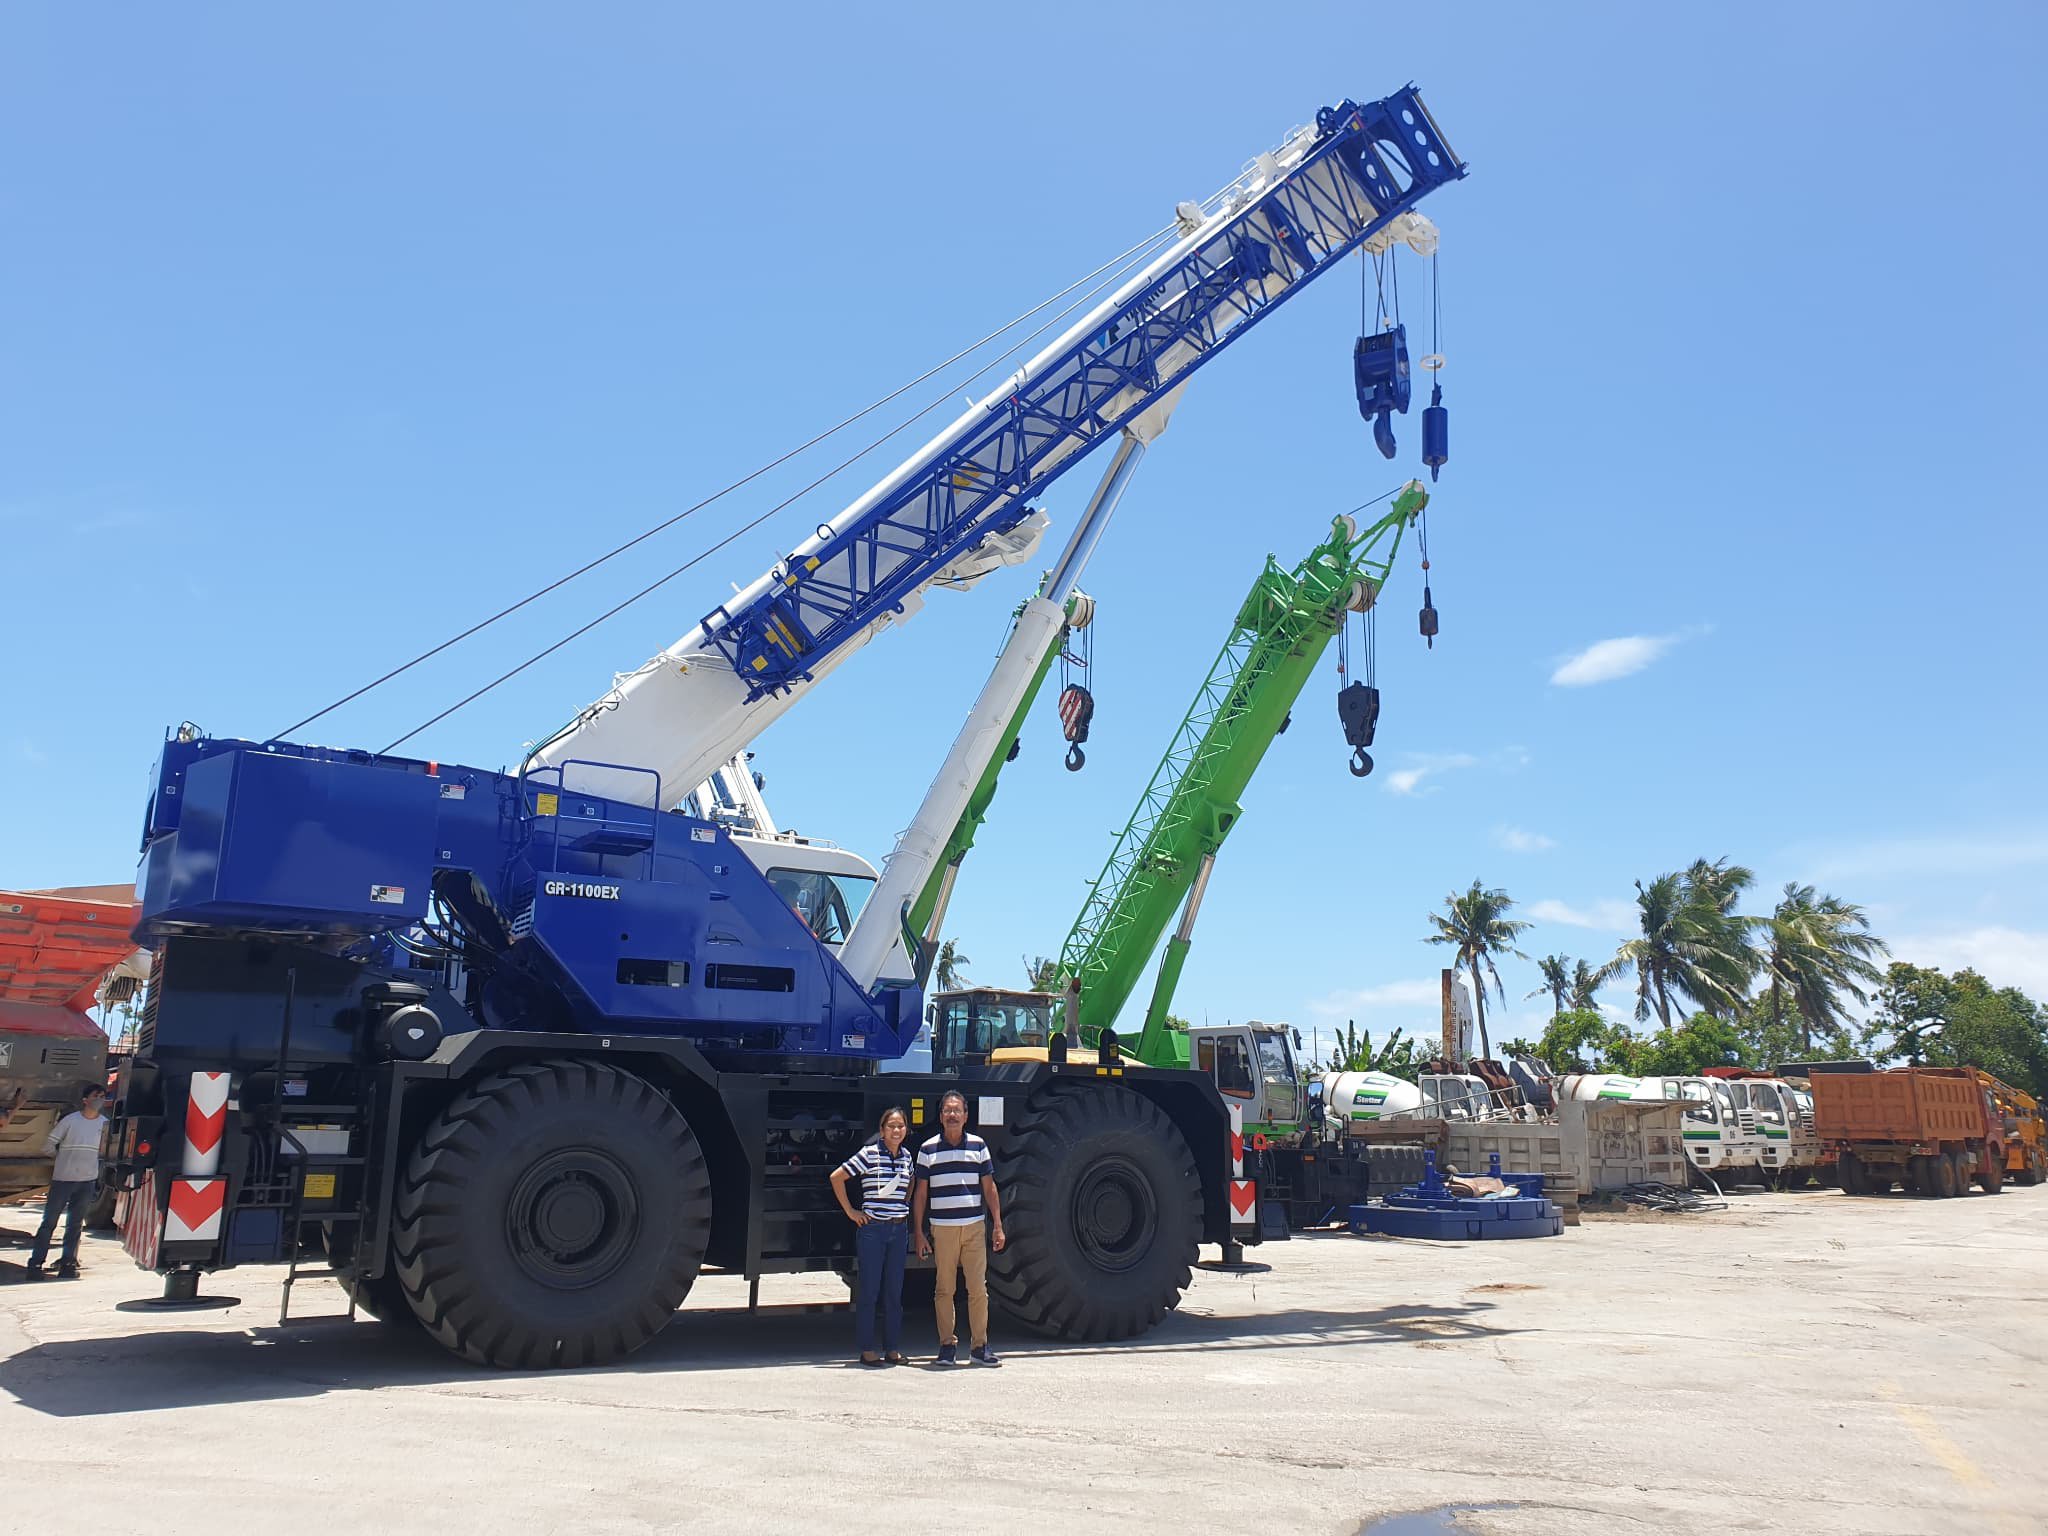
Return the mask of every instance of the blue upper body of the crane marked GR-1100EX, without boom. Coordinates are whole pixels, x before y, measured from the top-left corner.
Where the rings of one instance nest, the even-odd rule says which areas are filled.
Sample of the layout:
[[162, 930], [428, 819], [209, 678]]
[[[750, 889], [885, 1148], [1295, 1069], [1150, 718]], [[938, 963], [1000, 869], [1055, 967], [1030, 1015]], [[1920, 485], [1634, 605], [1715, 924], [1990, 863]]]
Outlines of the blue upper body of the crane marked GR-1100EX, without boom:
[[145, 944], [317, 936], [401, 963], [438, 909], [481, 940], [471, 952], [502, 956], [479, 1006], [504, 1026], [889, 1059], [922, 1010], [915, 987], [864, 993], [723, 827], [580, 795], [573, 764], [518, 778], [174, 739], [139, 885]]

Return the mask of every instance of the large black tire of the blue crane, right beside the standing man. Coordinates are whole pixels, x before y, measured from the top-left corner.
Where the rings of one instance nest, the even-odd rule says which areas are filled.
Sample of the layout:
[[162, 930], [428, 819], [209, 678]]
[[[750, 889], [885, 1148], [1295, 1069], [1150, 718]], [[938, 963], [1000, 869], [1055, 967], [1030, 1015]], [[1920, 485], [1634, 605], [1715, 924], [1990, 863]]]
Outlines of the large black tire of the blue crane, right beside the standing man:
[[1202, 1178], [1165, 1112], [1120, 1085], [1032, 1100], [997, 1167], [1008, 1245], [989, 1294], [1061, 1339], [1145, 1333], [1188, 1288]]

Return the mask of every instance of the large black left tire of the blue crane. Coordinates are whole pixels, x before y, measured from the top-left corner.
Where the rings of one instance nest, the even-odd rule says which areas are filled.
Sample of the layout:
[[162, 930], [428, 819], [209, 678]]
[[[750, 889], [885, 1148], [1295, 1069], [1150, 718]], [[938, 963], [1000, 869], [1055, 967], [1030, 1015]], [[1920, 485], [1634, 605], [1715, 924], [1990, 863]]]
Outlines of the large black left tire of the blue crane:
[[532, 1061], [465, 1087], [426, 1126], [397, 1194], [406, 1300], [479, 1366], [633, 1354], [690, 1294], [711, 1180], [655, 1087], [592, 1061]]

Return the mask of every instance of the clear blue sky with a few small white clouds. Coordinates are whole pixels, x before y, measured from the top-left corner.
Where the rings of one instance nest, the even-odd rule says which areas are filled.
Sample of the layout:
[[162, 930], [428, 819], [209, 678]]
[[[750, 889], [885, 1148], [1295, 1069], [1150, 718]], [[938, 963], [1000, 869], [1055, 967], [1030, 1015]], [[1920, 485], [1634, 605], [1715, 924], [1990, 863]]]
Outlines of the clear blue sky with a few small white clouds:
[[[1319, 106], [1413, 80], [1470, 166], [1425, 203], [1442, 635], [1415, 633], [1407, 545], [1378, 772], [1346, 770], [1331, 655], [1245, 795], [1178, 1012], [1427, 1030], [1448, 891], [1503, 887], [1530, 956], [1602, 961], [1634, 881], [1700, 856], [1755, 868], [1753, 909], [1812, 881], [1898, 958], [2048, 997], [2048, 12], [1028, 18], [8, 6], [0, 887], [129, 877], [166, 727], [281, 731], [920, 375]], [[1417, 473], [1417, 416], [1393, 463], [1358, 418], [1358, 324], [1354, 276], [1305, 291], [1147, 455], [1085, 580], [1087, 768], [1059, 768], [1042, 700], [963, 872], [975, 981], [1057, 952], [1266, 555]], [[383, 745], [870, 436], [305, 737]], [[414, 750], [516, 762], [893, 463]], [[1044, 498], [1053, 541], [1096, 473]], [[770, 727], [782, 823], [881, 862], [1036, 575], [932, 594]], [[1495, 1038], [1534, 1036], [1534, 965], [1503, 977]]]

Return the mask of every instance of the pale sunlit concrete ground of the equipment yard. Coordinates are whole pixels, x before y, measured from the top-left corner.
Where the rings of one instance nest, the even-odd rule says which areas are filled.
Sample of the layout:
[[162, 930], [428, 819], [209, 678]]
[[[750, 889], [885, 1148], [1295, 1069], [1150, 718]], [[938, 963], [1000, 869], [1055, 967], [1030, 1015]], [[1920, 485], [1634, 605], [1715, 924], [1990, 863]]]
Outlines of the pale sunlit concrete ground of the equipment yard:
[[2048, 1188], [1257, 1257], [1130, 1346], [997, 1335], [999, 1372], [850, 1368], [844, 1311], [750, 1319], [707, 1280], [625, 1366], [506, 1376], [373, 1323], [276, 1327], [276, 1270], [215, 1276], [233, 1311], [119, 1313], [152, 1284], [94, 1239], [78, 1282], [0, 1282], [0, 1524], [2048, 1530]]

